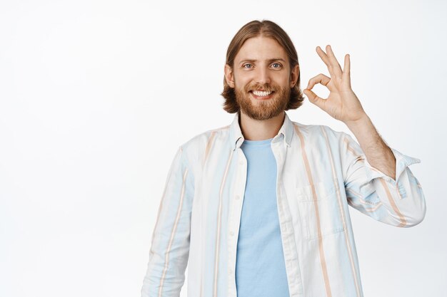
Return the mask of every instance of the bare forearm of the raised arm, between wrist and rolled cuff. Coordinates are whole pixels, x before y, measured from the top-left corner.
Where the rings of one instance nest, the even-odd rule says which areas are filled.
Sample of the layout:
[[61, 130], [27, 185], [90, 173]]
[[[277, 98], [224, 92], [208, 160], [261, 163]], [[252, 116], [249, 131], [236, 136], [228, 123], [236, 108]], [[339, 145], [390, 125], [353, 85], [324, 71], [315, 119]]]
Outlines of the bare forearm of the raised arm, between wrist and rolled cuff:
[[358, 140], [369, 164], [396, 180], [396, 158], [391, 149], [378, 135], [371, 119], [365, 114], [355, 122], [345, 123]]

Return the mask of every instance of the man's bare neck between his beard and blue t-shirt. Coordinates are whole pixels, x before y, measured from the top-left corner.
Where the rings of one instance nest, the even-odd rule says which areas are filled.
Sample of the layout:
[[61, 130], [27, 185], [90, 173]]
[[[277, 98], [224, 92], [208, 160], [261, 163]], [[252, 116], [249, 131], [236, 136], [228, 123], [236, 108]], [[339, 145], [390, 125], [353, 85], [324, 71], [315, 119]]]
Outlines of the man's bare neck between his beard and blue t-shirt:
[[286, 112], [280, 113], [268, 120], [253, 120], [241, 112], [239, 114], [239, 127], [246, 140], [267, 140], [278, 135], [284, 123]]

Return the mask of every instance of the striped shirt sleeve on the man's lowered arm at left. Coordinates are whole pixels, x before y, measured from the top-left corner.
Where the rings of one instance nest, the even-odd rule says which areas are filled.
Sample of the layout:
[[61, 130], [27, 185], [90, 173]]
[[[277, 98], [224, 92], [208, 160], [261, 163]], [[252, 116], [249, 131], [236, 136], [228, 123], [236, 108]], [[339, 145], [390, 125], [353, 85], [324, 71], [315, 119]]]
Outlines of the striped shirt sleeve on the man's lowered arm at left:
[[179, 297], [189, 259], [194, 177], [180, 146], [171, 163], [152, 232], [141, 297]]

